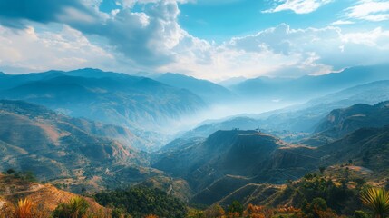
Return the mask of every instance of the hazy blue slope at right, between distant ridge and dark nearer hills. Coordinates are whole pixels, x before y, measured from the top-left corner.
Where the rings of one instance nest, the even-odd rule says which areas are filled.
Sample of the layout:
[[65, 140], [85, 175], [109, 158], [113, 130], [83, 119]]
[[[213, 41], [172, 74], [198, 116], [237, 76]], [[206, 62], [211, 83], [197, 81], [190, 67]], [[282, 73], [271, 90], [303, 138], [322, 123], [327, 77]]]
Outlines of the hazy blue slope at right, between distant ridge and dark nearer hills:
[[306, 104], [260, 114], [259, 126], [271, 130], [314, 132], [316, 125], [332, 110], [354, 104], [377, 104], [389, 99], [389, 81], [357, 85]]

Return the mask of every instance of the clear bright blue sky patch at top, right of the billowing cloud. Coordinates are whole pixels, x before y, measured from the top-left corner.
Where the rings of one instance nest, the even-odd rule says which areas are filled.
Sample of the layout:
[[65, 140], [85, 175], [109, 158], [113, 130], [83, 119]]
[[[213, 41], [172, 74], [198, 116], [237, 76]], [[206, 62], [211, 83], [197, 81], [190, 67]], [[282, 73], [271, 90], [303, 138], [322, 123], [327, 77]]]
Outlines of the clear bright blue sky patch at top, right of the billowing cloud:
[[266, 28], [281, 23], [306, 28], [309, 26], [326, 26], [334, 17], [327, 13], [334, 5], [325, 5], [315, 13], [297, 15], [293, 11], [279, 13], [262, 13], [272, 7], [270, 1], [240, 0], [219, 1], [219, 4], [192, 3], [181, 5], [180, 25], [190, 34], [208, 40], [224, 41], [232, 36], [255, 34]]

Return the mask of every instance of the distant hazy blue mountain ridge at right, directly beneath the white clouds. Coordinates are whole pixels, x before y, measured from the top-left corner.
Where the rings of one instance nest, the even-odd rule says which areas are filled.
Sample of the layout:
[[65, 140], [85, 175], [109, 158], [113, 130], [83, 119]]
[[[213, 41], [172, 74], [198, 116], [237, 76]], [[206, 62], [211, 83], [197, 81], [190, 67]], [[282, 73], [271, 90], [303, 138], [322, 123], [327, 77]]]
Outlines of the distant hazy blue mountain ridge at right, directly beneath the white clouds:
[[261, 96], [266, 99], [290, 98], [308, 100], [318, 95], [335, 93], [358, 84], [389, 79], [388, 65], [355, 66], [342, 72], [324, 75], [306, 75], [299, 78], [258, 77], [248, 79], [230, 88], [241, 96]]

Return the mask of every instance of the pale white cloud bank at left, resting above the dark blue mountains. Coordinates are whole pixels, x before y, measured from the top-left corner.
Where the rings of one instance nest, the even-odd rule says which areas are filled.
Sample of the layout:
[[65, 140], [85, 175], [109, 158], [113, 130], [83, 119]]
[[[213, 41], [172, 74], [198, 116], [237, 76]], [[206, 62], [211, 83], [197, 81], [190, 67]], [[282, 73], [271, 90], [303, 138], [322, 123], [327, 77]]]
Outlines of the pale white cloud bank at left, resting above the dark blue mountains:
[[[32, 26], [13, 30], [0, 25], [2, 70], [32, 72], [96, 66], [106, 68], [112, 54], [66, 25], [58, 32], [37, 33]], [[105, 65], [107, 64], [107, 65]]]

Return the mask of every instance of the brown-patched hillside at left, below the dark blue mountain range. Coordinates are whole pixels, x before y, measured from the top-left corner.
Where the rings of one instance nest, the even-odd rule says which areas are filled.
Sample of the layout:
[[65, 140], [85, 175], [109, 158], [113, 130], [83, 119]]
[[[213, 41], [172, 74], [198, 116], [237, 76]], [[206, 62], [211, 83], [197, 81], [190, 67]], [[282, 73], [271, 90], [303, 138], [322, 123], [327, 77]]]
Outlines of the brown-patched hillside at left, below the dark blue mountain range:
[[96, 135], [111, 134], [112, 126], [5, 100], [0, 101], [0, 124], [2, 171], [31, 171], [40, 180], [52, 180], [74, 192], [81, 186], [99, 190], [163, 174], [147, 168], [147, 155], [129, 144]]

